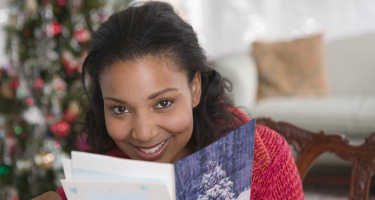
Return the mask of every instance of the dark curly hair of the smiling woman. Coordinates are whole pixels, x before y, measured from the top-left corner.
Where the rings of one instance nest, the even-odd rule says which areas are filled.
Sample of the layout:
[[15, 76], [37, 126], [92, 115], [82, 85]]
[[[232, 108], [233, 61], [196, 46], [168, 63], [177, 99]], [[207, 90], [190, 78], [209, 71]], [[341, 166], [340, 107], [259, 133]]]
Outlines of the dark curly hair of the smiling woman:
[[[178, 70], [186, 72], [189, 83], [195, 72], [201, 74], [201, 98], [193, 108], [193, 132], [187, 143], [192, 151], [234, 129], [233, 123], [242, 122], [228, 109], [233, 106], [225, 96], [225, 90], [231, 89], [230, 82], [209, 67], [192, 27], [170, 4], [148, 1], [112, 14], [92, 34], [81, 79], [90, 102], [83, 129], [89, 151], [103, 153], [115, 146], [105, 127], [100, 74], [116, 61], [134, 61], [146, 56], [169, 58]], [[90, 92], [85, 86], [85, 72], [92, 81]]]

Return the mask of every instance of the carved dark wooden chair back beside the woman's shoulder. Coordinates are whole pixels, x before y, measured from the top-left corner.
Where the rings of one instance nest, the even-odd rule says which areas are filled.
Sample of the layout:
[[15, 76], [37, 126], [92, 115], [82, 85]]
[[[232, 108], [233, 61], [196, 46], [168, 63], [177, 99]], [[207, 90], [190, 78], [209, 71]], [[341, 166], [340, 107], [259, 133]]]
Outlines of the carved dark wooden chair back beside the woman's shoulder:
[[314, 133], [270, 118], [257, 118], [256, 123], [272, 128], [295, 148], [296, 165], [302, 180], [323, 152], [332, 152], [341, 159], [352, 161], [349, 199], [368, 199], [370, 179], [375, 172], [375, 132], [363, 144], [354, 146], [340, 133]]

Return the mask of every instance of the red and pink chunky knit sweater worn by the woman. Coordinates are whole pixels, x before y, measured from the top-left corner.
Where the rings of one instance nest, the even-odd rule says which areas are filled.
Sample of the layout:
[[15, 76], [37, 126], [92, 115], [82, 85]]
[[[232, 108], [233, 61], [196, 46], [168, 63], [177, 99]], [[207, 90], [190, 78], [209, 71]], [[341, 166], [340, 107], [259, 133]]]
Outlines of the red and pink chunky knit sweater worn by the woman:
[[[250, 120], [238, 108], [234, 112], [244, 122]], [[129, 158], [119, 148], [107, 155]], [[66, 200], [62, 187], [57, 193]], [[303, 199], [302, 183], [288, 143], [274, 130], [259, 124], [255, 126], [250, 199]]]

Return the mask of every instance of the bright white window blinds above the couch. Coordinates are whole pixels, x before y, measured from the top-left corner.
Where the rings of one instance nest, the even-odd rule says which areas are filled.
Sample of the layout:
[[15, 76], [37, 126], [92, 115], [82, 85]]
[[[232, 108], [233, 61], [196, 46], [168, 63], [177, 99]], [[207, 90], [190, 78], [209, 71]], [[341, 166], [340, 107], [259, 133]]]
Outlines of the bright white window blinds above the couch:
[[325, 42], [375, 32], [375, 0], [183, 0], [213, 57], [249, 50], [255, 39], [323, 32]]

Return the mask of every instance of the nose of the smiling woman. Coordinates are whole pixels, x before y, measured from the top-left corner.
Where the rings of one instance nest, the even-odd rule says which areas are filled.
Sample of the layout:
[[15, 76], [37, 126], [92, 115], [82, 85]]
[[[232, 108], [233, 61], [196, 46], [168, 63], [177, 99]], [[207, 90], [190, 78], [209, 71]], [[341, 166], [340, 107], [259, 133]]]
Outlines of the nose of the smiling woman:
[[148, 111], [138, 112], [134, 116], [132, 137], [142, 142], [149, 141], [157, 135], [155, 117]]

